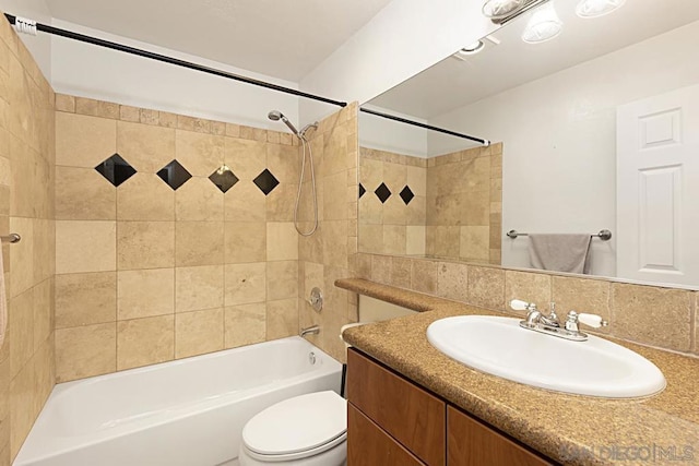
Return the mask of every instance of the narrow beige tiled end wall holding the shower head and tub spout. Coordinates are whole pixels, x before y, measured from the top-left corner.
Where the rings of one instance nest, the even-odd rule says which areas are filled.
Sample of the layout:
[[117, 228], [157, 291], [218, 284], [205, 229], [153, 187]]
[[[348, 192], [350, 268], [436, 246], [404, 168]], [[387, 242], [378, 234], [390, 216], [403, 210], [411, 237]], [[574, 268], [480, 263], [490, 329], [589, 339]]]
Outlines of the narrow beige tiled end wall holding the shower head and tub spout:
[[[357, 296], [336, 288], [337, 278], [354, 275], [357, 253], [357, 105], [351, 104], [320, 122], [310, 134], [318, 188], [318, 231], [299, 239], [299, 309], [301, 327], [320, 325], [309, 339], [340, 361], [345, 360], [340, 327], [357, 320]], [[306, 179], [310, 179], [307, 177]], [[304, 192], [310, 192], [309, 187]], [[311, 226], [311, 206], [304, 196], [300, 218]], [[307, 299], [313, 287], [324, 307], [315, 312]]]

